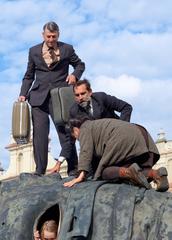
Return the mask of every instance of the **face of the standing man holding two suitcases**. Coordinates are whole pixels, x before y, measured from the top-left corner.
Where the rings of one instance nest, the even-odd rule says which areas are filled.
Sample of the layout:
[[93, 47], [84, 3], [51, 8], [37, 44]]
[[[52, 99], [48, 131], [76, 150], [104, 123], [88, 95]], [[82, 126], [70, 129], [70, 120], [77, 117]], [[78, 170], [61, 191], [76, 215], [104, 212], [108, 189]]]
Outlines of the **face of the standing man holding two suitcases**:
[[58, 41], [59, 32], [50, 32], [47, 28], [42, 33], [45, 43], [48, 47], [55, 47]]

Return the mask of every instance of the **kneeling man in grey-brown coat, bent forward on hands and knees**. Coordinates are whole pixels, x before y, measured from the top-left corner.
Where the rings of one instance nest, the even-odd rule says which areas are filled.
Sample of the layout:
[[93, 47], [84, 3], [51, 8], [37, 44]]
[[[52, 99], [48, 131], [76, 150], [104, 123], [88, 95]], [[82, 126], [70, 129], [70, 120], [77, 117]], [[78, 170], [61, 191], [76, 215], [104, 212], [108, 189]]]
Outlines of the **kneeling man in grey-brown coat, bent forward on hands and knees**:
[[[84, 181], [91, 172], [94, 180], [127, 180], [147, 189], [149, 181], [154, 181], [157, 191], [168, 190], [166, 168], [152, 169], [160, 155], [144, 127], [111, 118], [71, 119], [70, 126], [80, 143], [79, 175], [65, 183], [66, 187]], [[95, 159], [99, 161], [93, 169]]]

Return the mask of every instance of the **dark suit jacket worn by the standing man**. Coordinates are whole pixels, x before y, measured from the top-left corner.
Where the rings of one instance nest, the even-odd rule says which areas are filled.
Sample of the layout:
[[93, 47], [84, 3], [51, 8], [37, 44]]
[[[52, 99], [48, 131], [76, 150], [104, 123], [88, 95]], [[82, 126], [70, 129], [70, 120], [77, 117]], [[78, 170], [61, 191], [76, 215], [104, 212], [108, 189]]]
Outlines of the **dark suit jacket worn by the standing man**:
[[58, 42], [60, 61], [49, 68], [42, 57], [42, 46], [43, 43], [30, 48], [27, 71], [21, 86], [20, 96], [28, 97], [31, 106], [40, 106], [51, 89], [68, 86], [66, 78], [69, 65], [73, 66], [72, 74], [77, 79], [85, 69], [85, 64], [76, 55], [73, 47], [63, 42]]

